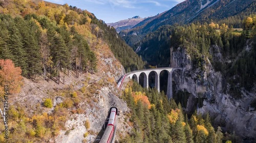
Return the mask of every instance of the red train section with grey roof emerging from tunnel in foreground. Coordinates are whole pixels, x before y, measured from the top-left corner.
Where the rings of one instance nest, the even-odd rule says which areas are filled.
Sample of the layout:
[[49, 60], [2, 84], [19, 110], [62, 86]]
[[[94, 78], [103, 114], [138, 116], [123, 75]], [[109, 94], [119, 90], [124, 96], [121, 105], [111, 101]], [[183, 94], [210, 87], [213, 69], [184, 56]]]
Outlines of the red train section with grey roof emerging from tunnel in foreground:
[[105, 132], [100, 139], [100, 143], [112, 142], [113, 134], [116, 128], [115, 123], [117, 118], [117, 112], [118, 112], [117, 107], [110, 108], [110, 117], [109, 117], [108, 126], [106, 127]]

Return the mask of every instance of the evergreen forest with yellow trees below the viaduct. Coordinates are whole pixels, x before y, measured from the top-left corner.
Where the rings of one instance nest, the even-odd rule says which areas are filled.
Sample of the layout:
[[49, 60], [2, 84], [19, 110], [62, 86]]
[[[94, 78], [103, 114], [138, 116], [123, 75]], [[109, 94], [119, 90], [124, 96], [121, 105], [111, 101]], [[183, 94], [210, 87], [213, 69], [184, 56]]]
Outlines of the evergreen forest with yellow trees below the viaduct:
[[156, 89], [143, 89], [132, 81], [122, 98], [131, 109], [125, 120], [133, 129], [121, 142], [239, 142], [236, 135], [212, 127], [208, 114], [195, 112], [188, 118], [180, 103]]

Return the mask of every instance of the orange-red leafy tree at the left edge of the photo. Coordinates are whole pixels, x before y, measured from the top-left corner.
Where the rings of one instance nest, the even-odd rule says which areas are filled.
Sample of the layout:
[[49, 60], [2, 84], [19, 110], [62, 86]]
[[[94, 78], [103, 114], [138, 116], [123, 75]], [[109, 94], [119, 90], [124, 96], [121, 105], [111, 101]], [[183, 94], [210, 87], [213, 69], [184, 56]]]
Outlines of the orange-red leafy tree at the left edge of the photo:
[[[11, 60], [0, 60], [0, 85], [8, 85], [10, 93], [18, 93], [22, 85], [22, 69], [15, 67]], [[3, 90], [1, 90], [3, 91]]]

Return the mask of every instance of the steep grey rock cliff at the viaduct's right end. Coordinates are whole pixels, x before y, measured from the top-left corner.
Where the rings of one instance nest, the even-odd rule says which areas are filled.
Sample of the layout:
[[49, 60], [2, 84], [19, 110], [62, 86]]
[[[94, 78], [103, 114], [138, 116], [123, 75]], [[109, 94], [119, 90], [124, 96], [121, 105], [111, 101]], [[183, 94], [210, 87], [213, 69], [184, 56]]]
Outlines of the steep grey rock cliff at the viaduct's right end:
[[[214, 61], [230, 62], [223, 59], [217, 45], [211, 46], [210, 52]], [[190, 56], [184, 48], [179, 47], [173, 51], [171, 57], [170, 63], [185, 68], [182, 76], [173, 75], [173, 78], [177, 84], [175, 91], [187, 91], [192, 95], [187, 102], [187, 112], [191, 112], [191, 108], [196, 106], [198, 113], [210, 113], [216, 127], [221, 126], [224, 131], [234, 131], [243, 139], [249, 139], [249, 142], [255, 139], [256, 111], [250, 107], [256, 98], [255, 86], [250, 92], [241, 89], [242, 98], [234, 99], [228, 94], [230, 85], [225, 82], [221, 72], [215, 71], [207, 57], [204, 57], [205, 60], [201, 63], [204, 70], [193, 68]], [[198, 97], [205, 99], [202, 106], [197, 103]]]

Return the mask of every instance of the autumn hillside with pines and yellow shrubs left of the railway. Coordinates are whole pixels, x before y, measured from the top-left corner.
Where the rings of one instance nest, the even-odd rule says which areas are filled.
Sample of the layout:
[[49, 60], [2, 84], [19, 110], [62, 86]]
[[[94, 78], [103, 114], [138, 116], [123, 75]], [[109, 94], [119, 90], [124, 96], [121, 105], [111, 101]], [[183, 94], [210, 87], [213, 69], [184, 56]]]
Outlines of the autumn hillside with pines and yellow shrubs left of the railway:
[[[8, 82], [19, 88], [9, 93], [9, 138], [1, 118], [0, 142], [96, 138], [109, 107], [124, 104], [115, 88], [124, 68], [144, 66], [115, 29], [92, 13], [44, 1], [0, 1], [0, 59], [1, 89], [12, 73], [2, 72], [10, 60], [23, 76], [17, 85]], [[120, 124], [125, 133], [126, 124]]]

